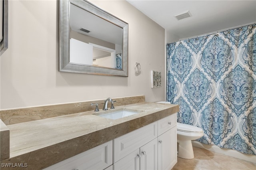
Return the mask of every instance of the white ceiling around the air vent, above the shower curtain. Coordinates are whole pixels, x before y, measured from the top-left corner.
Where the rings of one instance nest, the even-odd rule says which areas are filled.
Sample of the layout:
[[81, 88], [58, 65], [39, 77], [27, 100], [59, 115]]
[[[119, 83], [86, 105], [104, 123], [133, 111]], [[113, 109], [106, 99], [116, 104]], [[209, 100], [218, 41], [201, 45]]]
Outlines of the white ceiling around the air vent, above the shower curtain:
[[[173, 41], [256, 23], [256, 0], [127, 0], [166, 29]], [[189, 18], [176, 14], [189, 11]]]

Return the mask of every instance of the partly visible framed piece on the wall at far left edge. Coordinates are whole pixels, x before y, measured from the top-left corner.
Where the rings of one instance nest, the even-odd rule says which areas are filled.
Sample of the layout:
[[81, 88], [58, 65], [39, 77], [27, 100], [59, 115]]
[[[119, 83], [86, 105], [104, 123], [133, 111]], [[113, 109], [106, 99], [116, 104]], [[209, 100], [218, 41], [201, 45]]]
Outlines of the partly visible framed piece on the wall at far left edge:
[[0, 54], [8, 48], [8, 0], [0, 0]]

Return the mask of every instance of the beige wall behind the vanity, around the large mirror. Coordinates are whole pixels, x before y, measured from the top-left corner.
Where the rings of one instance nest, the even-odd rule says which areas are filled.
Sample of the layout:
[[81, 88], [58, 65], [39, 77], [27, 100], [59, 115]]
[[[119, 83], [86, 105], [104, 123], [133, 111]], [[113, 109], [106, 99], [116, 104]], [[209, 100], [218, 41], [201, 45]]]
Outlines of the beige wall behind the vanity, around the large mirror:
[[[58, 71], [58, 2], [9, 1], [9, 47], [1, 61], [1, 109], [34, 107], [146, 95], [165, 99], [150, 87], [150, 70], [165, 75], [165, 31], [126, 1], [91, 1], [129, 24], [129, 77]], [[135, 74], [135, 62], [141, 73]]]

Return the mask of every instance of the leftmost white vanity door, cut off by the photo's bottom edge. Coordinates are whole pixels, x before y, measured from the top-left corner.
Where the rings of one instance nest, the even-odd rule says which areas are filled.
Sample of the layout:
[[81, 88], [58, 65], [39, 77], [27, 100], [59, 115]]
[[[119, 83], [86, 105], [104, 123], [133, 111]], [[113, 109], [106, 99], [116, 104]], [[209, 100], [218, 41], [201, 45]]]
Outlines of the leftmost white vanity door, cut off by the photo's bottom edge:
[[140, 158], [138, 154], [140, 150], [137, 149], [134, 152], [128, 154], [118, 162], [114, 163], [114, 170], [139, 170]]

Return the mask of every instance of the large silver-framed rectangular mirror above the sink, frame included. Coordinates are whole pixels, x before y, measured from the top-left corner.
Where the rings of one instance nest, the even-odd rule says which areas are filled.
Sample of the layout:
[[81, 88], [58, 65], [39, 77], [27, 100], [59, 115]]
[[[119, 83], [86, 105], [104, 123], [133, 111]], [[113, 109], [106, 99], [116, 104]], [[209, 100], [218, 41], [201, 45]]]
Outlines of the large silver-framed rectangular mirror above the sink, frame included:
[[86, 0], [59, 3], [59, 71], [128, 77], [128, 24]]

